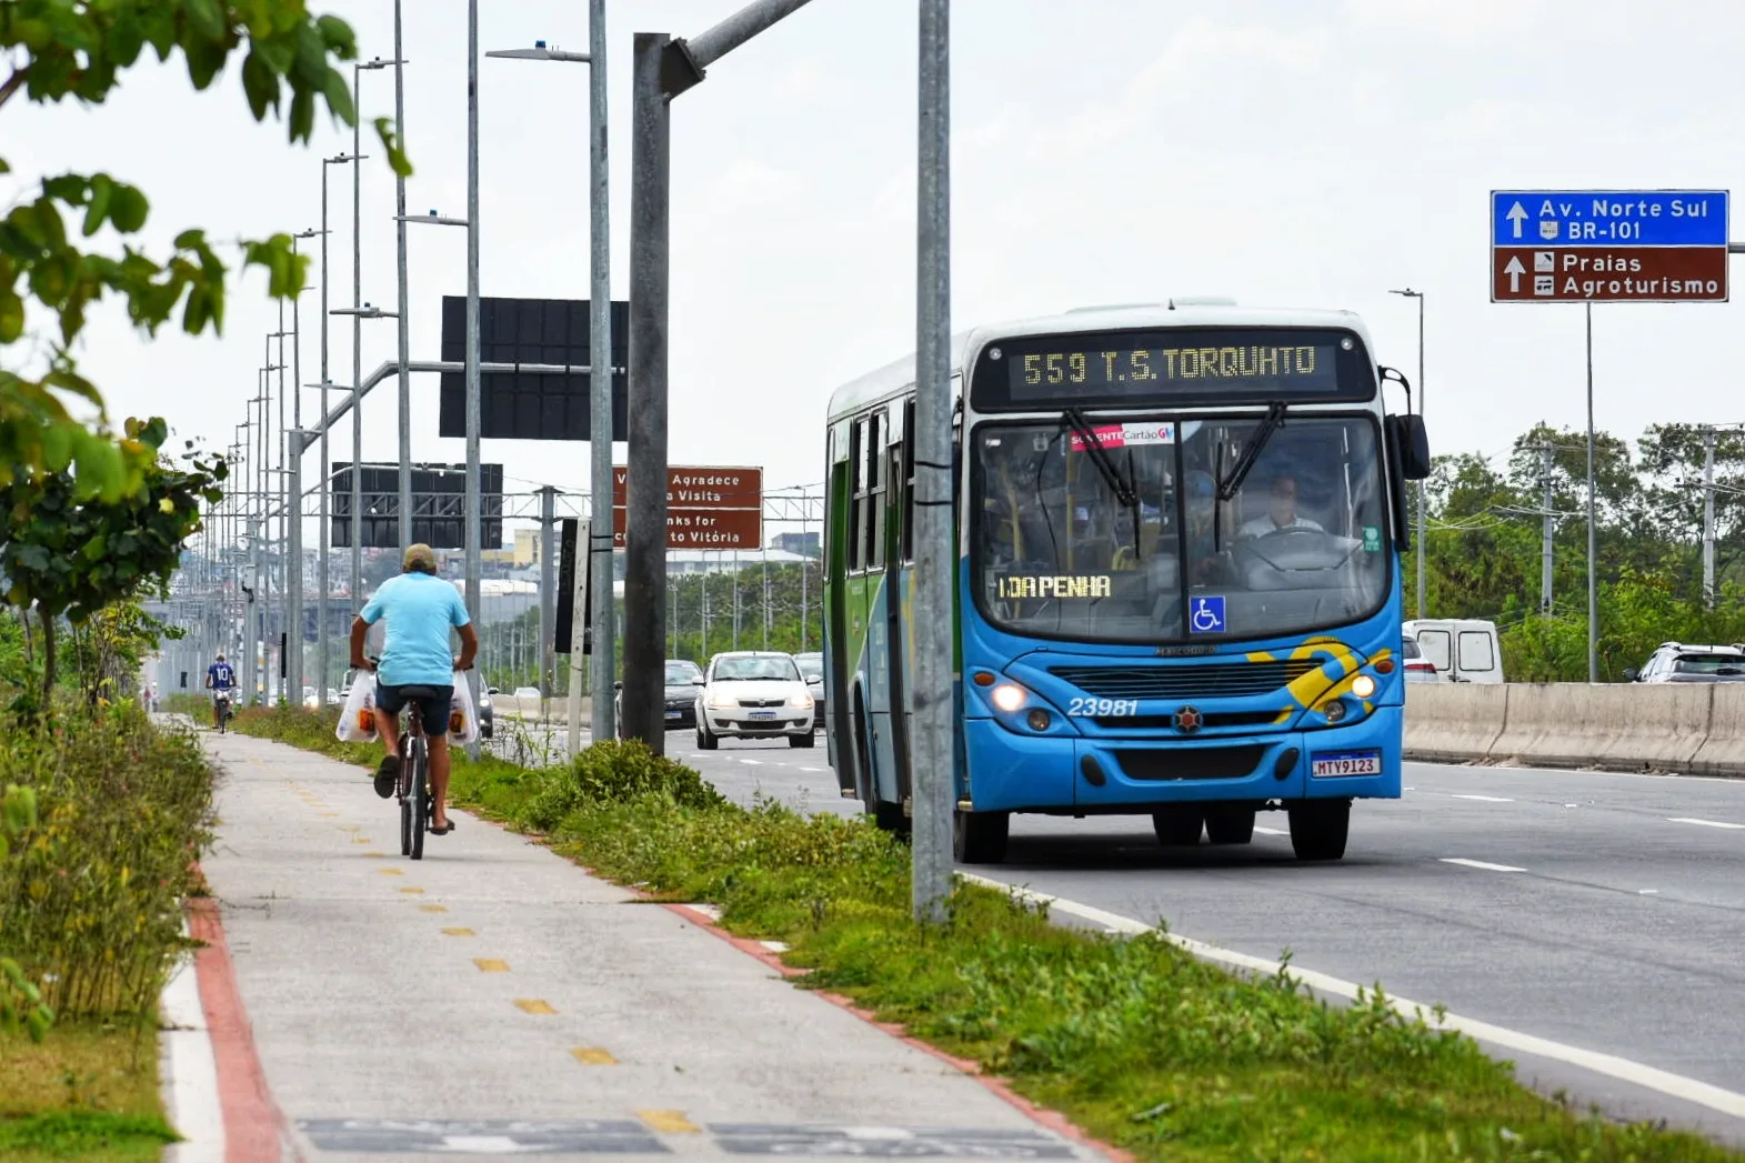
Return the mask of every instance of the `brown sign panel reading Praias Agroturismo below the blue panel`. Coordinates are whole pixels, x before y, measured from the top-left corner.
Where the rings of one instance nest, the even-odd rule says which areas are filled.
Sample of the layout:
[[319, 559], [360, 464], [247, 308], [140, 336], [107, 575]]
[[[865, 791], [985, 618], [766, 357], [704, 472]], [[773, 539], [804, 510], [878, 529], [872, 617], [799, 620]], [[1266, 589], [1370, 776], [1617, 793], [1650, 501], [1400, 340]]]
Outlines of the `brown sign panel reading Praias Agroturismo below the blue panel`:
[[1497, 246], [1497, 302], [1719, 302], [1728, 297], [1724, 246]]

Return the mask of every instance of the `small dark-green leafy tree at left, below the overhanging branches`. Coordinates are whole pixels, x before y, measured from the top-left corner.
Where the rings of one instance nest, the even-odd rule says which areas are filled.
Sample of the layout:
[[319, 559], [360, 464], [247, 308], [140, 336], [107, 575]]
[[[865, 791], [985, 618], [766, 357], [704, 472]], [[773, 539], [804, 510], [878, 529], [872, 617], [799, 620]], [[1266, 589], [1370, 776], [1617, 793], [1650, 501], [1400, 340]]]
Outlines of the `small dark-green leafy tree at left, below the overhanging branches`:
[[89, 622], [105, 606], [162, 590], [201, 527], [201, 503], [218, 503], [229, 475], [222, 458], [192, 442], [181, 466], [159, 454], [166, 424], [129, 419], [127, 440], [148, 463], [140, 485], [117, 499], [86, 496], [70, 471], [14, 477], [0, 489], [0, 575], [7, 601], [35, 609], [44, 630], [44, 698], [54, 686], [54, 627]]

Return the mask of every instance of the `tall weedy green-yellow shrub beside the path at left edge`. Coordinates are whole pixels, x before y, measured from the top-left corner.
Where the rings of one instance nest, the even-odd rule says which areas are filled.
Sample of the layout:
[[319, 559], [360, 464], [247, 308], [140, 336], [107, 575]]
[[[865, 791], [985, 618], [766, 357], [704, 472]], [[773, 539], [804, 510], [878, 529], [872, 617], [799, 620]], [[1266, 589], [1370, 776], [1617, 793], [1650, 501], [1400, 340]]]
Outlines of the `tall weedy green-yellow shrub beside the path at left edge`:
[[215, 770], [188, 732], [131, 704], [63, 714], [0, 740], [0, 786], [37, 821], [0, 861], [0, 948], [59, 1015], [145, 1013], [185, 946]]

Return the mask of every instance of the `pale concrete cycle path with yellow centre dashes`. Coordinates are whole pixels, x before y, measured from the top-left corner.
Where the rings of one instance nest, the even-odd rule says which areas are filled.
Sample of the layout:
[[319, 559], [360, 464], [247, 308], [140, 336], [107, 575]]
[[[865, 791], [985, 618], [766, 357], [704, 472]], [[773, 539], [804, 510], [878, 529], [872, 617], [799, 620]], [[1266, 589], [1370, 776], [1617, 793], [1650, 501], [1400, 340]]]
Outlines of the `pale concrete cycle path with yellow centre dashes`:
[[220, 1077], [230, 1161], [1101, 1158], [696, 913], [462, 812], [408, 861], [359, 768], [206, 742], [229, 772], [204, 868], [243, 1020], [204, 964], [202, 1002], [220, 1074], [251, 1029], [263, 1076]]

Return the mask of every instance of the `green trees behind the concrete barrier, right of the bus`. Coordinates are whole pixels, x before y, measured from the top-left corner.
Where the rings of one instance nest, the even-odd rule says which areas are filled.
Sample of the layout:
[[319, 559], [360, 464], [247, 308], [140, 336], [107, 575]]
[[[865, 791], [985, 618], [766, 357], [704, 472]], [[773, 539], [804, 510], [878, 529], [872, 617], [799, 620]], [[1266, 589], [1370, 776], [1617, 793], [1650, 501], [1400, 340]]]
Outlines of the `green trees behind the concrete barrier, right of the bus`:
[[[1665, 641], [1745, 641], [1745, 433], [1715, 433], [1712, 608], [1701, 430], [1654, 424], [1633, 449], [1600, 431], [1593, 452], [1600, 676], [1621, 679]], [[1588, 678], [1586, 459], [1586, 433], [1536, 424], [1501, 468], [1445, 456], [1426, 482], [1429, 613], [1495, 620], [1511, 681]], [[1541, 609], [1546, 512], [1551, 606]], [[1410, 576], [1415, 562], [1405, 566]]]

